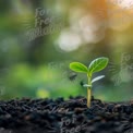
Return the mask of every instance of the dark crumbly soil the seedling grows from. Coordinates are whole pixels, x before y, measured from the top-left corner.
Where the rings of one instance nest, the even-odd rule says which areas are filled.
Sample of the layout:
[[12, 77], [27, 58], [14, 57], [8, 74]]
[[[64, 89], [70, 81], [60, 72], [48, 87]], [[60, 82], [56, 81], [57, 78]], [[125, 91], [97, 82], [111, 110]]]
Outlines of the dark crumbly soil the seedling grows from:
[[92, 97], [0, 101], [0, 133], [132, 133], [133, 102]]

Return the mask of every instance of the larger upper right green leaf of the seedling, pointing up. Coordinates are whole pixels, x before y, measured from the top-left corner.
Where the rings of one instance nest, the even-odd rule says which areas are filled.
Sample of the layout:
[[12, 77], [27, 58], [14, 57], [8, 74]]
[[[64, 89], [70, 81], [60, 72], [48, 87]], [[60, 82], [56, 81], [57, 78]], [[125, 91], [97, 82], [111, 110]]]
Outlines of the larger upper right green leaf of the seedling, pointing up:
[[89, 75], [92, 75], [95, 72], [99, 72], [102, 69], [105, 69], [108, 64], [109, 59], [101, 57], [101, 58], [97, 58], [94, 61], [90, 62], [89, 66], [88, 66], [88, 71], [89, 71]]

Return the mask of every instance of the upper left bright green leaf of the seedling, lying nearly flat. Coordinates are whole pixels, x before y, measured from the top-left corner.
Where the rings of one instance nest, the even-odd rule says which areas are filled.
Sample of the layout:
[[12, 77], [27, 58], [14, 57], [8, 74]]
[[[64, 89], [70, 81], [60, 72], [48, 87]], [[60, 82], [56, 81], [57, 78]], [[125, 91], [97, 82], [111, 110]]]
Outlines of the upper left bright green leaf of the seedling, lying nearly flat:
[[75, 71], [75, 72], [82, 72], [82, 73], [87, 73], [88, 69], [86, 65], [80, 62], [72, 62], [70, 63], [70, 69]]

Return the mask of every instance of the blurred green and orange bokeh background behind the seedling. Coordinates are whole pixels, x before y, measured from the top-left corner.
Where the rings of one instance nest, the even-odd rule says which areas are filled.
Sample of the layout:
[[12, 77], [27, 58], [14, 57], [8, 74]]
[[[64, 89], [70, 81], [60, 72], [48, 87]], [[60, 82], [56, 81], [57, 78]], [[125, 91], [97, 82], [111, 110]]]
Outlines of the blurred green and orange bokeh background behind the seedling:
[[86, 96], [86, 65], [108, 57], [94, 76], [96, 98], [133, 98], [133, 2], [131, 0], [1, 0], [0, 99]]

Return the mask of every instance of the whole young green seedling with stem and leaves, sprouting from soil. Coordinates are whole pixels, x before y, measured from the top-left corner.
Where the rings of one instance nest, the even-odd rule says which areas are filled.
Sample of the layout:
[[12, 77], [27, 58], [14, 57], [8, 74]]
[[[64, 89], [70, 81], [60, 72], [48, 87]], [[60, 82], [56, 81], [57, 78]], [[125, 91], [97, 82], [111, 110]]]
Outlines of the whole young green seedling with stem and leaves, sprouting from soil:
[[70, 69], [74, 72], [85, 73], [87, 75], [88, 83], [84, 84], [84, 87], [87, 87], [87, 107], [90, 107], [90, 98], [92, 98], [92, 87], [93, 83], [99, 81], [105, 77], [105, 75], [99, 75], [92, 80], [92, 76], [95, 72], [99, 72], [104, 70], [109, 62], [108, 58], [101, 57], [93, 60], [88, 66], [84, 65], [80, 62], [70, 63]]

